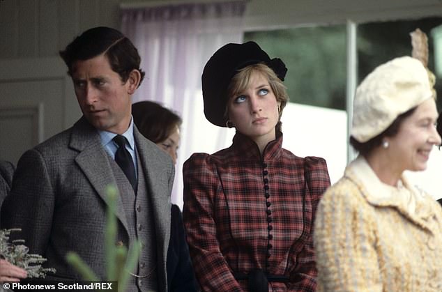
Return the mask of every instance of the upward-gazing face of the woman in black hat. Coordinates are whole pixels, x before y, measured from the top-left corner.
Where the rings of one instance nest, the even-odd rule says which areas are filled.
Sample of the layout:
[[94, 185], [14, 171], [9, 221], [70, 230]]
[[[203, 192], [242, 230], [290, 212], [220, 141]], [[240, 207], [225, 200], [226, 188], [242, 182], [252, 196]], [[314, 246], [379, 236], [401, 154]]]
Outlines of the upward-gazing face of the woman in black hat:
[[227, 111], [236, 130], [257, 144], [267, 144], [275, 139], [279, 105], [268, 79], [255, 71], [247, 89], [229, 98]]

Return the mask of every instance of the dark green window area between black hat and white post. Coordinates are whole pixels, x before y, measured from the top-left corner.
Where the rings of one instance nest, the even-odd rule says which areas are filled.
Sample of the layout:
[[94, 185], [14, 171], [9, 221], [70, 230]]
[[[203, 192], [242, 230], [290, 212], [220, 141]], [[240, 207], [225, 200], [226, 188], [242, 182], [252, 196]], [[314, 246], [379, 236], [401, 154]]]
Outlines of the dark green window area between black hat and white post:
[[284, 61], [291, 102], [345, 109], [346, 26], [254, 31], [245, 33], [247, 40]]

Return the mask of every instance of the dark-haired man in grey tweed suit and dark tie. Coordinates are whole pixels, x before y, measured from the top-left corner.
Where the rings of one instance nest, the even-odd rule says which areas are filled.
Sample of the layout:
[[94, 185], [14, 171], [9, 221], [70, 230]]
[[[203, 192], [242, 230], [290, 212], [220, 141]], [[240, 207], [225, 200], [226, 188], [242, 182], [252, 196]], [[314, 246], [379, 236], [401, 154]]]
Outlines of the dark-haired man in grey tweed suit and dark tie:
[[[26, 151], [10, 196], [1, 210], [2, 228], [21, 228], [31, 253], [56, 268], [51, 279], [81, 279], [66, 263], [77, 252], [106, 279], [104, 234], [106, 187], [116, 185], [116, 245], [142, 242], [128, 291], [167, 291], [170, 192], [174, 165], [169, 155], [133, 125], [131, 96], [144, 77], [137, 49], [115, 29], [89, 29], [60, 53], [73, 79], [82, 118], [72, 128]], [[127, 139], [135, 164], [132, 187], [114, 161], [116, 135]]]

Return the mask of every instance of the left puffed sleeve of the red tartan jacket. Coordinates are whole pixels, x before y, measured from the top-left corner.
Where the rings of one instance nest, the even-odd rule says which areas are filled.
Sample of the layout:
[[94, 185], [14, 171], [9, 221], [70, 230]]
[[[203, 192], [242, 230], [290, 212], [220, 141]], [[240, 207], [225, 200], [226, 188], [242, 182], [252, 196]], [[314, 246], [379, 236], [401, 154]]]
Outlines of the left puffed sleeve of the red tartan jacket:
[[211, 155], [193, 154], [183, 165], [183, 220], [190, 257], [202, 291], [241, 291], [220, 251], [215, 201], [221, 192]]

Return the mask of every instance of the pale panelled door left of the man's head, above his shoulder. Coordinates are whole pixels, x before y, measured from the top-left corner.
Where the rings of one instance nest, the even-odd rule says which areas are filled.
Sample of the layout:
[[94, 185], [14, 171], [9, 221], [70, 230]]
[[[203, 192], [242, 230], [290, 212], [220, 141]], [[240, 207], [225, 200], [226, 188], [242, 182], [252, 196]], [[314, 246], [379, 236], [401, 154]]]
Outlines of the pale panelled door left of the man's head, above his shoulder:
[[0, 159], [17, 164], [29, 148], [81, 116], [58, 58], [0, 61]]

